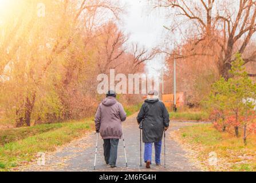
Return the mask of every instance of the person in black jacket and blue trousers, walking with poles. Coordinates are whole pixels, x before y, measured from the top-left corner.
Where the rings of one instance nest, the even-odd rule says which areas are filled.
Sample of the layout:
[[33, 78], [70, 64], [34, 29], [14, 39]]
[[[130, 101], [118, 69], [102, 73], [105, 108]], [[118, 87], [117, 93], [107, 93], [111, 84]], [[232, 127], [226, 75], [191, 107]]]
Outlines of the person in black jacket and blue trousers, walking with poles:
[[150, 168], [152, 143], [155, 144], [156, 165], [160, 165], [163, 132], [168, 129], [170, 119], [166, 106], [158, 99], [157, 91], [149, 92], [147, 98], [141, 106], [137, 122], [143, 126], [144, 161], [146, 168]]

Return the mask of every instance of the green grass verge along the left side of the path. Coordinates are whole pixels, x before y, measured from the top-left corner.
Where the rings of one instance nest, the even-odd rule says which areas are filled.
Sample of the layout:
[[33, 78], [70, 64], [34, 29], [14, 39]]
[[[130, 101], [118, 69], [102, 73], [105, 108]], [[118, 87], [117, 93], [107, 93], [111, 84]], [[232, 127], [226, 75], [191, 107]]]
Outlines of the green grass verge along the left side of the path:
[[[22, 136], [21, 140], [0, 146], [0, 171], [10, 170], [23, 161], [33, 160], [38, 152], [53, 151], [56, 146], [64, 145], [74, 138], [81, 137], [86, 131], [92, 129], [92, 124], [92, 120], [88, 120], [86, 122], [38, 125], [28, 127], [26, 130], [21, 129], [21, 132], [27, 132], [29, 129], [33, 131], [36, 128], [38, 133], [33, 135], [27, 133]], [[35, 131], [33, 132], [35, 133]], [[31, 136], [28, 137], [28, 135]]]

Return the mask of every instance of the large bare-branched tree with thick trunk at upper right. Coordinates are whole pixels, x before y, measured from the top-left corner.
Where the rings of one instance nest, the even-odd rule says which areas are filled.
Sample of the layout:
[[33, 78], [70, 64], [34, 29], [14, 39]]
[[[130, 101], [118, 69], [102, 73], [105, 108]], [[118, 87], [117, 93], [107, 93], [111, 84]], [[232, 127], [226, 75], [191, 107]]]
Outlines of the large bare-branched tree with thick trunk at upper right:
[[[182, 55], [175, 54], [175, 57], [217, 55], [216, 66], [225, 79], [231, 77], [229, 70], [234, 61], [234, 53], [243, 55], [244, 64], [256, 61], [255, 50], [245, 54], [256, 32], [255, 1], [152, 1], [155, 8], [168, 9], [170, 18], [176, 17], [167, 29], [173, 31], [179, 28], [184, 41], [191, 44], [191, 49], [183, 51]], [[198, 50], [196, 47], [203, 49]], [[249, 76], [256, 74], [249, 73]]]

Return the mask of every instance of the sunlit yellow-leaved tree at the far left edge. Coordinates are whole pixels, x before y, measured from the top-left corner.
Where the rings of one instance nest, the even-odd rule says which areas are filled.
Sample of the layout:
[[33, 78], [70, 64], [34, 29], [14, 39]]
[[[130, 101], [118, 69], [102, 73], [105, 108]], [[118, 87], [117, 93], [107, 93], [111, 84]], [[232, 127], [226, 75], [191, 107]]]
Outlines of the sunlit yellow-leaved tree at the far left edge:
[[[31, 117], [47, 120], [61, 116], [62, 101], [56, 90], [60, 77], [54, 71], [72, 55], [71, 49], [75, 49], [73, 45], [78, 35], [82, 35], [83, 27], [90, 30], [95, 27], [95, 13], [108, 11], [117, 17], [120, 7], [111, 0], [10, 3], [9, 11], [1, 17], [4, 18], [0, 41], [0, 75], [4, 78], [1, 104], [10, 105], [17, 126], [30, 126]], [[90, 17], [90, 23], [84, 25], [83, 17]], [[35, 108], [41, 113], [33, 113]]]

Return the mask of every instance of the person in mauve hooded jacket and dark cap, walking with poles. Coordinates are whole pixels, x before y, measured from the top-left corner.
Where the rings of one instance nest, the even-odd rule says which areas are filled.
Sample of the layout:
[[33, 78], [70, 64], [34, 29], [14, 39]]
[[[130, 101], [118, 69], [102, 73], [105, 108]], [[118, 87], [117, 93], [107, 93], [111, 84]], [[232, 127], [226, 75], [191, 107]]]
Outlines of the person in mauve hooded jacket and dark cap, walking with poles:
[[111, 168], [116, 167], [117, 146], [119, 139], [123, 136], [121, 122], [126, 120], [123, 106], [116, 100], [113, 91], [107, 93], [95, 115], [96, 132], [100, 133], [104, 140], [104, 157], [106, 164]]

